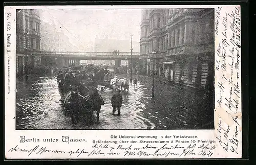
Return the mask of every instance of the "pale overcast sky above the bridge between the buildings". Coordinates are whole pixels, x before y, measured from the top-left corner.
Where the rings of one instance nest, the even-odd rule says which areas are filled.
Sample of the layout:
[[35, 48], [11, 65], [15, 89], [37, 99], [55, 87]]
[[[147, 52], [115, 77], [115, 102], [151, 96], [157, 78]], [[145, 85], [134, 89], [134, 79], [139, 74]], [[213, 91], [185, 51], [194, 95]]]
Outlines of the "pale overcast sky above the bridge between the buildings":
[[81, 42], [94, 46], [96, 36], [131, 40], [133, 35], [134, 41], [140, 41], [140, 9], [46, 9], [40, 10], [40, 18], [49, 23], [54, 21], [77, 46]]

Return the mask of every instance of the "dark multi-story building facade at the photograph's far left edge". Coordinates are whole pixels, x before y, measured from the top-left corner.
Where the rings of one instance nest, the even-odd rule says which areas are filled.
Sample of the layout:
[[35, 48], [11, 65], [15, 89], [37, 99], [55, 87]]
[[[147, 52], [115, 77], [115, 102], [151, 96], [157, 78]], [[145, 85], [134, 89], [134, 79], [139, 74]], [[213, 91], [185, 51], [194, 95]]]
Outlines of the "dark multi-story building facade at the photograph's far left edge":
[[29, 73], [40, 65], [40, 57], [30, 52], [40, 50], [40, 17], [35, 9], [16, 11], [16, 73]]

